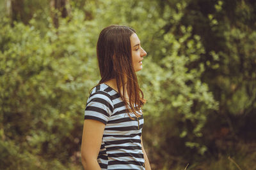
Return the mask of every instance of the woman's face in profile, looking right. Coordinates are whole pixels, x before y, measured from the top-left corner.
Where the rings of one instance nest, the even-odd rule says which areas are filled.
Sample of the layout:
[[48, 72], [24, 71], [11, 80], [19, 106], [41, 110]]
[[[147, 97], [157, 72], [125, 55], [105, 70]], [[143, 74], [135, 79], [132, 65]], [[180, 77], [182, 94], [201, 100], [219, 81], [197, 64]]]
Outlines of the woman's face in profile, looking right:
[[132, 47], [132, 64], [134, 71], [140, 71], [142, 69], [142, 60], [147, 52], [140, 46], [140, 39], [136, 33], [130, 36], [131, 47]]

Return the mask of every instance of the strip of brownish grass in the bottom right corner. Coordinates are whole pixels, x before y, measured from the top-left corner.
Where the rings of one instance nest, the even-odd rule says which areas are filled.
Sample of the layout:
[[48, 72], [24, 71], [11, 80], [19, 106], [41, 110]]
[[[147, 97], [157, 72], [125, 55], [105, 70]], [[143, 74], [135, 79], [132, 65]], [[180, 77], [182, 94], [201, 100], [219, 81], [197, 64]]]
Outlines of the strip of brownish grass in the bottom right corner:
[[[184, 161], [177, 162], [178, 159], [166, 163], [162, 168], [154, 167], [154, 169], [164, 170], [247, 170], [256, 169], [256, 143], [241, 144], [237, 143], [232, 150], [227, 150], [225, 154], [219, 154], [218, 157], [202, 157], [198, 162], [189, 162], [184, 164]], [[200, 161], [201, 160], [201, 161]], [[186, 161], [186, 160], [185, 160]], [[176, 162], [176, 163], [175, 163]], [[185, 166], [186, 165], [186, 166]]]

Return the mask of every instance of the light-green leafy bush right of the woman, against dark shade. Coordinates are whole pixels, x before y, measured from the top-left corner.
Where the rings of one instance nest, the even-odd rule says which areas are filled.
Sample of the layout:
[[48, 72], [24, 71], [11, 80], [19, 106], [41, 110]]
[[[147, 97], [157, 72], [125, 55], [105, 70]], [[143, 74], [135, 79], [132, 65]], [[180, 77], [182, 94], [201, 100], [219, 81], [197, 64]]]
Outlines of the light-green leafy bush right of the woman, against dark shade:
[[[151, 133], [156, 131], [157, 138], [152, 145], [159, 147], [164, 154], [163, 162], [171, 159], [170, 153], [175, 155], [180, 149], [186, 155], [195, 151], [204, 154], [207, 148], [198, 143], [198, 139], [203, 136], [202, 128], [208, 113], [218, 108], [207, 85], [200, 80], [204, 65], [193, 69], [187, 67], [204, 53], [200, 38], [194, 36], [190, 39], [190, 31], [184, 28], [184, 36], [179, 39], [175, 39], [172, 33], [164, 34], [163, 44], [169, 45], [162, 46], [166, 50], [159, 52], [164, 57], [159, 60], [159, 65], [153, 64], [152, 57], [149, 57], [140, 73], [148, 99], [144, 111], [148, 117], [154, 118], [154, 122], [150, 122], [152, 129], [146, 128], [151, 129]], [[154, 129], [156, 126], [157, 130]], [[170, 146], [173, 139], [179, 138], [179, 148]]]

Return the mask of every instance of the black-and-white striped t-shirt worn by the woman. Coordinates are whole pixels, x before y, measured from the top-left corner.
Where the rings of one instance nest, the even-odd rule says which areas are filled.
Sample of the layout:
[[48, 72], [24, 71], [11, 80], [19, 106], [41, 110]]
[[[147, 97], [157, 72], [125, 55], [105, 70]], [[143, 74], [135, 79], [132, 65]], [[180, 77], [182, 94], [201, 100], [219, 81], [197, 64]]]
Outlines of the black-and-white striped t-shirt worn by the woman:
[[118, 92], [102, 83], [93, 88], [88, 98], [84, 119], [106, 125], [98, 162], [101, 169], [145, 169], [141, 149], [143, 115], [132, 120]]

